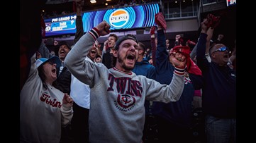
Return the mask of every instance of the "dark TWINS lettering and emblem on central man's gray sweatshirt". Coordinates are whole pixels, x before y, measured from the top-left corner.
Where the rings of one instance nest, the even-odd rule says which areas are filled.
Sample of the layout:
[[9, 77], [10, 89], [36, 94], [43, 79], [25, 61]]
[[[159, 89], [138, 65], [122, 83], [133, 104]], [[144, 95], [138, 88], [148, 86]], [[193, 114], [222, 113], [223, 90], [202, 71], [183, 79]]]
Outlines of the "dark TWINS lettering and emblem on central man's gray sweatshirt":
[[141, 83], [138, 80], [131, 80], [130, 77], [114, 77], [111, 74], [108, 75], [108, 80], [110, 82], [107, 91], [118, 92], [117, 99], [114, 101], [116, 108], [121, 111], [131, 110], [136, 99], [142, 96]]

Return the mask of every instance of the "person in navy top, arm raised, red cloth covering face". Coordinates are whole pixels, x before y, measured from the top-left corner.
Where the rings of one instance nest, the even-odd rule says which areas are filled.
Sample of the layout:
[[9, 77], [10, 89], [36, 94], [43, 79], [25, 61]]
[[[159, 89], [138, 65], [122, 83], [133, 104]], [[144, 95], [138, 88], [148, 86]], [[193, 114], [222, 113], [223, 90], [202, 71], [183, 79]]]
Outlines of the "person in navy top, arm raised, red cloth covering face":
[[187, 55], [187, 68], [185, 70], [184, 89], [179, 101], [153, 103], [152, 113], [157, 118], [159, 142], [166, 142], [169, 139], [175, 143], [191, 142], [192, 101], [194, 90], [202, 87], [201, 70], [189, 57], [189, 46], [174, 46], [169, 53], [167, 52], [163, 29], [161, 25], [157, 25], [156, 81], [169, 85], [174, 79], [172, 76], [175, 70], [172, 61], [174, 51]]

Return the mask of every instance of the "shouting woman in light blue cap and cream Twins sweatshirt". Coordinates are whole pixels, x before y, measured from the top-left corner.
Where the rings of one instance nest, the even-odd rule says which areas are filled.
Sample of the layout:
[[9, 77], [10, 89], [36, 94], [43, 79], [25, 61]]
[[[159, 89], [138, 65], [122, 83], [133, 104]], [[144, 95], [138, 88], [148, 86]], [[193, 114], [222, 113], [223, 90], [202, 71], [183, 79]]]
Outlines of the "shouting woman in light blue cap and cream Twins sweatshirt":
[[52, 86], [60, 59], [31, 57], [20, 94], [20, 142], [60, 142], [61, 126], [72, 119], [72, 98]]

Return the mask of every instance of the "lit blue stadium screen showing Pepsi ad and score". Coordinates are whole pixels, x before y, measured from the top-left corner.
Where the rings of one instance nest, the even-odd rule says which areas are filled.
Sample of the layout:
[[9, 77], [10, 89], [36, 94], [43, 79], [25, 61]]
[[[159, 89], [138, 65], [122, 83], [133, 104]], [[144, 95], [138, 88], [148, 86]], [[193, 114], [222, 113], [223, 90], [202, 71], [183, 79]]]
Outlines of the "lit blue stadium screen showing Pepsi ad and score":
[[[158, 4], [145, 4], [85, 12], [82, 13], [84, 32], [96, 27], [103, 20], [106, 20], [111, 25], [111, 30], [115, 31], [151, 27], [155, 25], [155, 14], [159, 11]], [[74, 14], [45, 19], [45, 36], [75, 34], [76, 18], [77, 16]]]

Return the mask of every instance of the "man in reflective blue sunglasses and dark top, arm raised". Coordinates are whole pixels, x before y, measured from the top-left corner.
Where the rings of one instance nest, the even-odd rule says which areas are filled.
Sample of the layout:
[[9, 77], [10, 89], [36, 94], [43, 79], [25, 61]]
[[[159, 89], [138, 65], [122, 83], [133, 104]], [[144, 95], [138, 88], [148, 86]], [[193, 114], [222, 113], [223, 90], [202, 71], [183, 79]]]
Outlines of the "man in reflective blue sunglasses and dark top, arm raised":
[[201, 23], [196, 61], [204, 76], [202, 106], [206, 115], [208, 143], [236, 142], [236, 77], [228, 66], [228, 48], [216, 44], [209, 49], [211, 62], [205, 56], [208, 21]]

